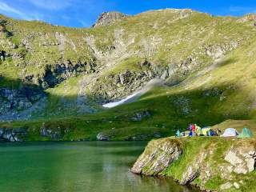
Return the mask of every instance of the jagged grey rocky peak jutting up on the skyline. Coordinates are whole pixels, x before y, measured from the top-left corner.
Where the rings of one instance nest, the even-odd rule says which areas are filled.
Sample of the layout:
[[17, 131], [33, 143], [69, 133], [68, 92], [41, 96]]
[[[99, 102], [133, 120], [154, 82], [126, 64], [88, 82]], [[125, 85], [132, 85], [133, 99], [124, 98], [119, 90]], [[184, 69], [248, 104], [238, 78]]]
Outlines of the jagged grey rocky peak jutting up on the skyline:
[[93, 27], [110, 26], [114, 22], [119, 21], [124, 17], [126, 17], [126, 14], [122, 14], [116, 11], [104, 12], [99, 16], [97, 22], [93, 25]]

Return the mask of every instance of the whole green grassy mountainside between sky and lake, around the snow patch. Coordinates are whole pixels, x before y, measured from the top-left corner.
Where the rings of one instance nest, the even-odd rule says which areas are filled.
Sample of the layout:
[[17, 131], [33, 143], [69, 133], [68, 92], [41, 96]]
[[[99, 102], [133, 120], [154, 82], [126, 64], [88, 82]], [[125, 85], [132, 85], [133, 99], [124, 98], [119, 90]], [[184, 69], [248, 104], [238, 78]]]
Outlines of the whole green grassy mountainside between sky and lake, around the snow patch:
[[[214, 126], [255, 118], [256, 27], [250, 16], [159, 10], [94, 29], [2, 19], [8, 24], [1, 49], [10, 56], [0, 64], [0, 86], [18, 88], [15, 82], [30, 74], [28, 83], [42, 86], [48, 64], [58, 77], [54, 86], [44, 87], [46, 106], [34, 111], [33, 122], [1, 123], [29, 129], [29, 140], [52, 139], [40, 136], [42, 127], [62, 133], [59, 140], [94, 140], [99, 132], [111, 140], [149, 139], [186, 130], [191, 122]], [[86, 70], [58, 74], [54, 67], [61, 63], [86, 63]], [[127, 70], [132, 74], [127, 83], [115, 83]], [[155, 75], [139, 78], [149, 73]], [[157, 75], [165, 86], [136, 102], [102, 109], [102, 102], [125, 97]]]

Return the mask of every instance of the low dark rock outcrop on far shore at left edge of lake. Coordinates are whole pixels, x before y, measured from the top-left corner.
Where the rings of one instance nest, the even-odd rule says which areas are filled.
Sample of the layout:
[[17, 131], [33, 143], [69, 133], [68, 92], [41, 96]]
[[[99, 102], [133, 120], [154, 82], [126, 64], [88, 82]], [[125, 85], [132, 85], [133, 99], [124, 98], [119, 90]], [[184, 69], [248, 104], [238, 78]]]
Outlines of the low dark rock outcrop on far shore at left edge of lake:
[[0, 128], [0, 142], [22, 142], [27, 138], [26, 129]]

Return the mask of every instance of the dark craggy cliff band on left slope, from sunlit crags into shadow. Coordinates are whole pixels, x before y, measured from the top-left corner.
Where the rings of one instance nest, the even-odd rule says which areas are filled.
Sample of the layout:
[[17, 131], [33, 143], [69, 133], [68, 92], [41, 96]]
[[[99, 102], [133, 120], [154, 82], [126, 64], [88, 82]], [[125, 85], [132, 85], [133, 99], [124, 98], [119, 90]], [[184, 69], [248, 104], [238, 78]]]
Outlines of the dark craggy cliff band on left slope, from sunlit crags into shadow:
[[[0, 60], [5, 59], [5, 57], [5, 52], [0, 51]], [[34, 74], [29, 74], [22, 79], [22, 82], [28, 86], [22, 85], [16, 90], [5, 87], [0, 88], [0, 116], [30, 109], [35, 102], [46, 97], [43, 90], [54, 87], [65, 79], [78, 74], [94, 73], [95, 67], [94, 63], [82, 62], [47, 65], [42, 77], [35, 77]]]

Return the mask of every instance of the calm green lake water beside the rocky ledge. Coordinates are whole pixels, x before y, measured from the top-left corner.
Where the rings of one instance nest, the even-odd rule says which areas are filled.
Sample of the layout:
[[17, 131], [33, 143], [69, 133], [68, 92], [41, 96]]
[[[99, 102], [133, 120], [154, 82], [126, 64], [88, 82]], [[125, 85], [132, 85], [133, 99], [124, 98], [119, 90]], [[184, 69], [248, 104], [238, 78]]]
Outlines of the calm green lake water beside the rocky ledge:
[[0, 143], [1, 192], [190, 192], [129, 172], [146, 142]]

